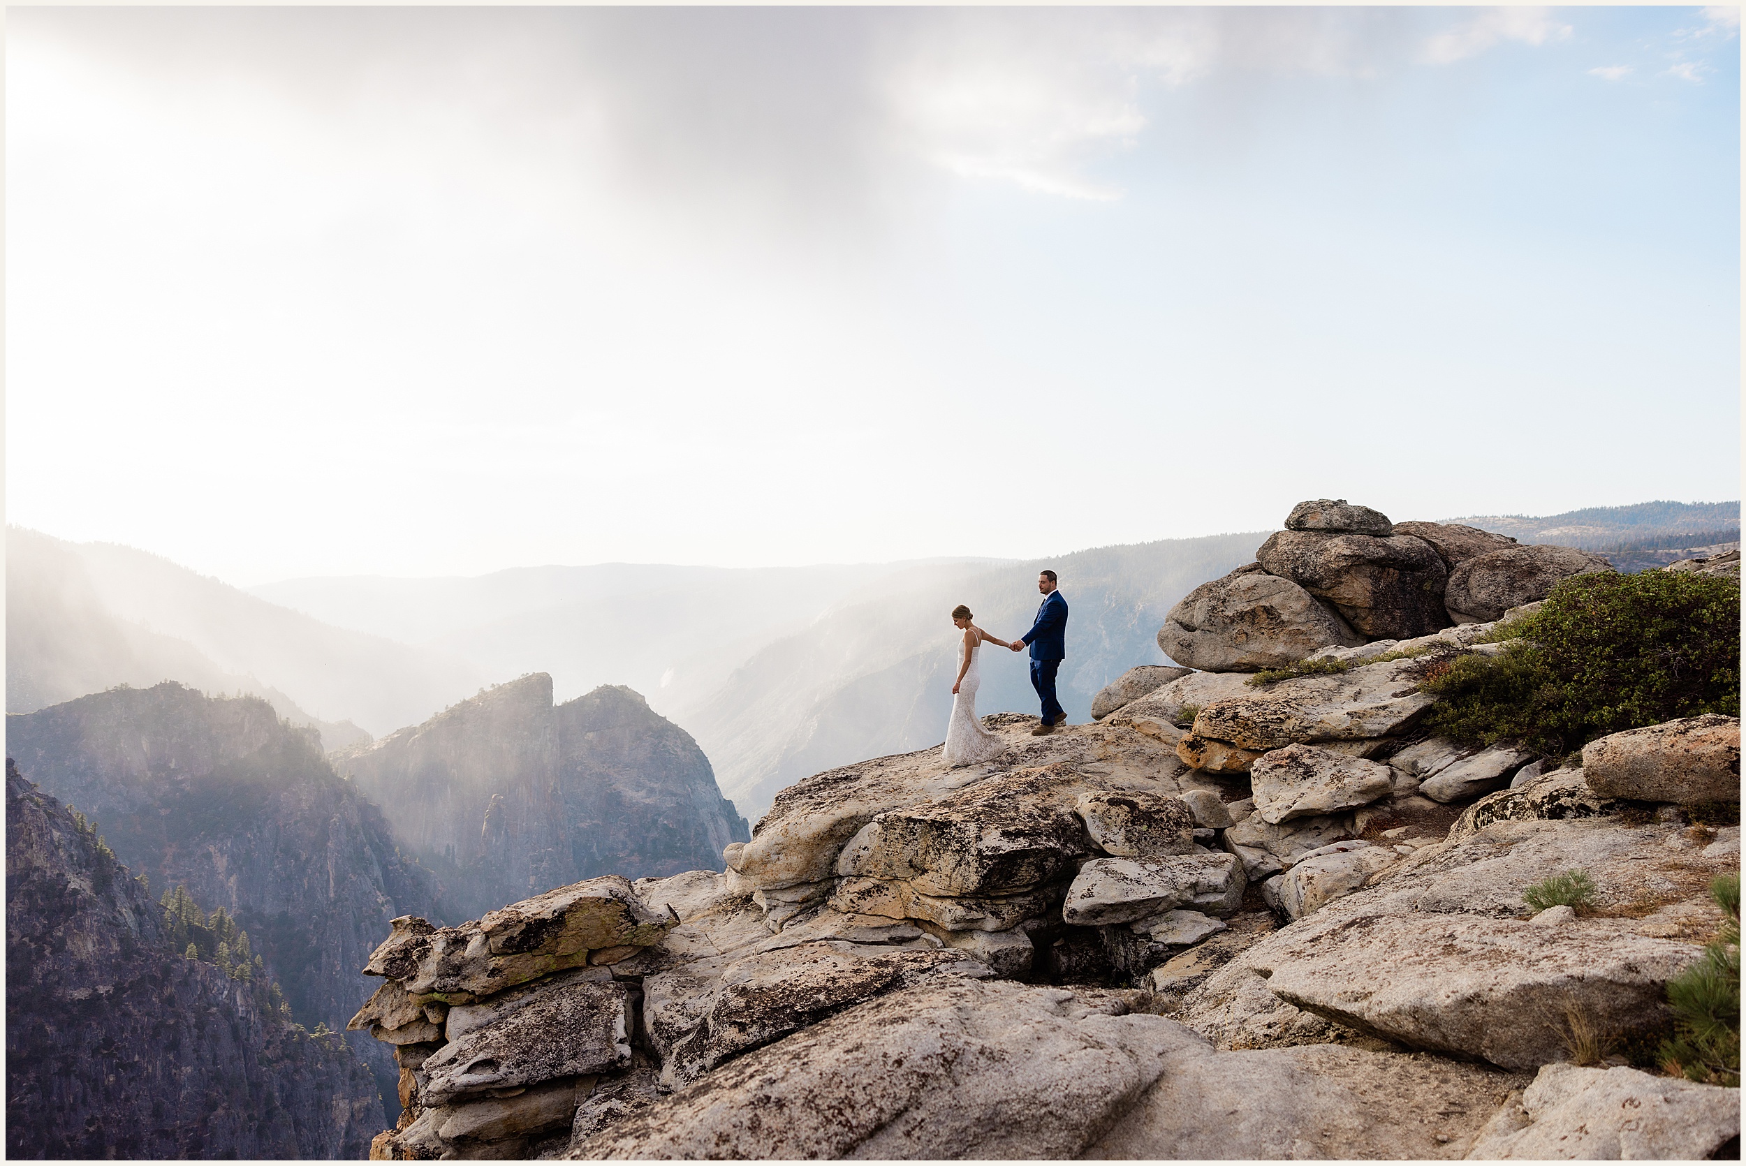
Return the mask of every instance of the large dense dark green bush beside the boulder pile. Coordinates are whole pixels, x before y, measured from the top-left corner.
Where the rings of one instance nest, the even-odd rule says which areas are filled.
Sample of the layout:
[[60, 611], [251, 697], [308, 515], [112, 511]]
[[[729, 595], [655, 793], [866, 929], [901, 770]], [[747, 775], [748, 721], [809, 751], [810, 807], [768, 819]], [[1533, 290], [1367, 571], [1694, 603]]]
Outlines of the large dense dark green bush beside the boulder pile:
[[1514, 621], [1498, 656], [1421, 682], [1426, 728], [1463, 745], [1561, 758], [1596, 737], [1704, 712], [1739, 716], [1741, 593], [1690, 573], [1578, 574]]

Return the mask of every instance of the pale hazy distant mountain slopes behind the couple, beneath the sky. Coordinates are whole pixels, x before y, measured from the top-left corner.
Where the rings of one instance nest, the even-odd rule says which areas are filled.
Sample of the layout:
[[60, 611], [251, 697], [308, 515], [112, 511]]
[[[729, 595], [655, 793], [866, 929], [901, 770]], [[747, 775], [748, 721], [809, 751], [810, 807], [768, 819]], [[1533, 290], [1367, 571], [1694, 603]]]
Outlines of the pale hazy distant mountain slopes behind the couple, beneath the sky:
[[[1633, 571], [1730, 534], [1737, 541], [1739, 503], [1451, 522], [1596, 550]], [[1165, 662], [1149, 632], [1163, 613], [1248, 562], [1262, 538], [1165, 539], [1037, 562], [552, 566], [286, 580], [244, 592], [147, 552], [12, 527], [7, 710], [178, 679], [260, 695], [337, 749], [545, 672], [557, 702], [601, 684], [643, 695], [697, 738], [723, 792], [756, 820], [807, 773], [945, 735], [953, 604], [967, 602], [978, 623], [1009, 639], [1028, 627], [1035, 571], [1060, 571], [1074, 613], [1062, 700], [1084, 719], [1091, 696], [1126, 667]], [[980, 705], [1028, 709], [1023, 660], [1000, 665], [990, 660]]]

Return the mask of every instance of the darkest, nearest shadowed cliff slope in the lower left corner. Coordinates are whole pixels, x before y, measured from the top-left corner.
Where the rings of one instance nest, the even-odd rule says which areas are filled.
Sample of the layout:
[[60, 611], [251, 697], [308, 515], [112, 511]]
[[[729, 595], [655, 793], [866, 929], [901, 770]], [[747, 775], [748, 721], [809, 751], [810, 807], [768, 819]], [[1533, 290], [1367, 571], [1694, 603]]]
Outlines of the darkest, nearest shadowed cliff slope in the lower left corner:
[[169, 948], [162, 909], [7, 763], [7, 1156], [361, 1157], [370, 1070]]

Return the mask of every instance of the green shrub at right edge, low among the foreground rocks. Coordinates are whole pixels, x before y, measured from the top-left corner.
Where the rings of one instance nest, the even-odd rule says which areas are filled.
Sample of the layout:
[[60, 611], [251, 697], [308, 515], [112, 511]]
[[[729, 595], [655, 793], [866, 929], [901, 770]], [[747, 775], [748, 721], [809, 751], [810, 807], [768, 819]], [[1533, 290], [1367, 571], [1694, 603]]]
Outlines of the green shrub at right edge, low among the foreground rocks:
[[1723, 874], [1709, 895], [1729, 918], [1702, 958], [1667, 981], [1673, 1039], [1660, 1046], [1662, 1068], [1716, 1086], [1741, 1084], [1741, 876]]

